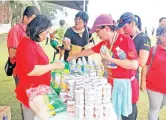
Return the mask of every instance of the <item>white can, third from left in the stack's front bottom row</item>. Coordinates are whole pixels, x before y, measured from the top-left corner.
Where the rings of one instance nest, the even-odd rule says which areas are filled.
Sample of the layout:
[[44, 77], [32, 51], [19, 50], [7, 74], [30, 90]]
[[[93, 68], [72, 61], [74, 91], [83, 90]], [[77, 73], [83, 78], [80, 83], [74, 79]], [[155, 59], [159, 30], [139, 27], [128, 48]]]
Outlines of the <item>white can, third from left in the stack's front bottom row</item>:
[[94, 106], [93, 105], [85, 105], [85, 119], [92, 120], [94, 117]]

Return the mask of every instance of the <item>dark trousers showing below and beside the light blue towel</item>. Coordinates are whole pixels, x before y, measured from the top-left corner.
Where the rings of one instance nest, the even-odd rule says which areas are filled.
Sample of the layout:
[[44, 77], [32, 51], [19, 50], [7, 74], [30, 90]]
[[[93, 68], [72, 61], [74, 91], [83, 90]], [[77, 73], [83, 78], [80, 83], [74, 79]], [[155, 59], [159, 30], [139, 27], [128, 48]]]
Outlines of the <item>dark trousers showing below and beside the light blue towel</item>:
[[125, 116], [122, 116], [122, 120], [136, 120], [137, 119], [137, 105], [134, 103], [132, 104], [132, 109], [133, 109], [133, 112], [128, 116], [128, 117], [125, 117]]

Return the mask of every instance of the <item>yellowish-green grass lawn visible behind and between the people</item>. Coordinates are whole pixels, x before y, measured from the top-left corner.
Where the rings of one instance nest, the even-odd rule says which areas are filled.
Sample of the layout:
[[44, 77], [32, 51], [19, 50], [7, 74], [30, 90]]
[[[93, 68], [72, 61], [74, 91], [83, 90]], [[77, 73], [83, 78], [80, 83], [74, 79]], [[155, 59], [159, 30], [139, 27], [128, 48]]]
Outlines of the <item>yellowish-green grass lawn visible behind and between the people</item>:
[[[154, 43], [155, 41], [152, 42]], [[49, 45], [44, 45], [45, 43], [41, 44], [51, 60], [53, 56], [53, 49]], [[0, 35], [0, 52], [1, 52], [0, 53], [0, 106], [10, 106], [12, 113], [12, 120], [21, 120], [19, 102], [15, 98], [14, 80], [12, 77], [7, 77], [4, 73], [4, 65], [8, 55], [6, 49], [6, 34]], [[98, 55], [93, 55], [93, 59], [95, 58], [98, 58]], [[97, 60], [100, 61], [100, 59]], [[147, 119], [148, 107], [149, 107], [149, 102], [147, 94], [140, 92], [137, 120], [148, 120]], [[166, 108], [161, 110], [160, 120], [166, 120]]]

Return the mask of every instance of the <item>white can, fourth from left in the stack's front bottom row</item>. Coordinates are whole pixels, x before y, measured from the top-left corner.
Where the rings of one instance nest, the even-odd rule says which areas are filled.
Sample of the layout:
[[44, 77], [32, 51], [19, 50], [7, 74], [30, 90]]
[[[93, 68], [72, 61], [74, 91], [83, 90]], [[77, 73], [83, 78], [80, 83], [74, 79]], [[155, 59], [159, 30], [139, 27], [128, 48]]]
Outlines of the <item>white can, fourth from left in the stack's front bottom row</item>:
[[95, 105], [96, 120], [103, 120], [103, 105]]

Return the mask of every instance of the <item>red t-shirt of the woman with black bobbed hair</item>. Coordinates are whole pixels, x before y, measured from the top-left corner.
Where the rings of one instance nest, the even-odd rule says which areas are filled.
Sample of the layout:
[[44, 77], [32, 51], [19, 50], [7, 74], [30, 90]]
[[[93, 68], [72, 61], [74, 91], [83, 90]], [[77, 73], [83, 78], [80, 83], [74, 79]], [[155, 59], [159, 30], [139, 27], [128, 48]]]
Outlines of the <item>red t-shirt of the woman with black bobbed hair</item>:
[[49, 59], [39, 44], [30, 38], [24, 37], [17, 48], [16, 69], [19, 83], [16, 87], [17, 99], [29, 107], [26, 89], [39, 85], [50, 85], [51, 74], [45, 73], [41, 76], [27, 76], [35, 65], [47, 65]]

